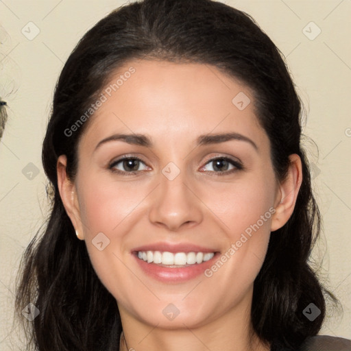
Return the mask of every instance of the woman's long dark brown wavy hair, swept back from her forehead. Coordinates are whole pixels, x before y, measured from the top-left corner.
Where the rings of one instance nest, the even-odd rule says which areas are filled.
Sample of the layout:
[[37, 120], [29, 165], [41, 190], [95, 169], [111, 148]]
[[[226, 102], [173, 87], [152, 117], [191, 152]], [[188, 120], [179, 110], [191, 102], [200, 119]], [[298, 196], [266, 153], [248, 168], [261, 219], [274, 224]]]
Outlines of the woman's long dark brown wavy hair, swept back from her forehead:
[[[58, 156], [67, 173], [77, 169], [77, 143], [88, 121], [71, 136], [64, 131], [96, 101], [112, 73], [133, 59], [195, 62], [217, 67], [254, 92], [259, 122], [269, 136], [277, 180], [289, 155], [302, 160], [303, 180], [293, 214], [271, 234], [254, 282], [252, 330], [272, 349], [298, 348], [317, 335], [326, 313], [324, 294], [337, 302], [308, 265], [320, 230], [308, 161], [301, 144], [301, 103], [287, 66], [269, 37], [244, 12], [210, 0], [145, 0], [123, 5], [91, 28], [64, 64], [43, 142], [43, 165], [52, 210], [21, 263], [16, 308], [32, 302], [40, 311], [29, 325], [36, 350], [115, 350], [121, 319], [114, 297], [90, 263], [64, 210], [56, 175]], [[321, 314], [310, 322], [303, 310]]]

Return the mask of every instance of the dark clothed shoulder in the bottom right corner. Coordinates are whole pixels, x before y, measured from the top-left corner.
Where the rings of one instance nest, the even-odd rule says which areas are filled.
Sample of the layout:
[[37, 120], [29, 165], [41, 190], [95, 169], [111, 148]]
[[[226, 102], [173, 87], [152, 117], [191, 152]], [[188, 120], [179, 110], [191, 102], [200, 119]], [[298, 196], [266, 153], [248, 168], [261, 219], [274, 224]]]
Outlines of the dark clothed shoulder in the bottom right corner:
[[351, 340], [329, 335], [308, 337], [299, 351], [351, 351]]

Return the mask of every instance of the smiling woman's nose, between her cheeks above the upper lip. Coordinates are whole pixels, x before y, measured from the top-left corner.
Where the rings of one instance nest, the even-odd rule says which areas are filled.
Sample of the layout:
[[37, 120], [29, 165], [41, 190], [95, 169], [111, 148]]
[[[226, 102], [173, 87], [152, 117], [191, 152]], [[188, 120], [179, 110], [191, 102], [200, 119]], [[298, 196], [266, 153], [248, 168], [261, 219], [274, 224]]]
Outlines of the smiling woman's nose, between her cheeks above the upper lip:
[[152, 206], [149, 220], [156, 226], [163, 226], [170, 231], [181, 228], [192, 228], [204, 218], [201, 199], [196, 195], [196, 189], [186, 179], [186, 172], [180, 171], [178, 176], [170, 180], [160, 174], [160, 185], [152, 196]]

